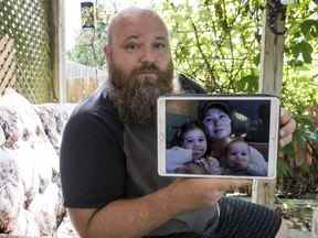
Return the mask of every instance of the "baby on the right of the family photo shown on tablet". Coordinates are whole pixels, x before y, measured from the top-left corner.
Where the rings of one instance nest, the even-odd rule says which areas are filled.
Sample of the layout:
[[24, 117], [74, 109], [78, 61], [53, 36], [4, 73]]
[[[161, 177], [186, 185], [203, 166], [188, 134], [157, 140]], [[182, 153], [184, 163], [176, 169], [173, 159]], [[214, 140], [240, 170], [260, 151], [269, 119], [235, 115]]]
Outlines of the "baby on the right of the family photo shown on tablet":
[[267, 170], [264, 171], [263, 167], [257, 169], [251, 164], [251, 149], [252, 147], [243, 139], [232, 140], [225, 149], [224, 174], [266, 176]]

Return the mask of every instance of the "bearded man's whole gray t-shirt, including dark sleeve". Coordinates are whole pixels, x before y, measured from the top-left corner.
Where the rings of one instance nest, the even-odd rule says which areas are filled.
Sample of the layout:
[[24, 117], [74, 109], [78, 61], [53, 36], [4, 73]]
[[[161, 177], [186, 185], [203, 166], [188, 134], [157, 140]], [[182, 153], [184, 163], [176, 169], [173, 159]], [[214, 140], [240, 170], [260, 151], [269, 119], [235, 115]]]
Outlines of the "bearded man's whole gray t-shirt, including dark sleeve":
[[[204, 93], [181, 77], [189, 93]], [[157, 128], [123, 125], [105, 89], [74, 110], [61, 148], [61, 178], [66, 207], [102, 208], [118, 198], [147, 195], [174, 177], [158, 175]], [[218, 224], [218, 207], [183, 213], [151, 232], [202, 232], [208, 221]]]

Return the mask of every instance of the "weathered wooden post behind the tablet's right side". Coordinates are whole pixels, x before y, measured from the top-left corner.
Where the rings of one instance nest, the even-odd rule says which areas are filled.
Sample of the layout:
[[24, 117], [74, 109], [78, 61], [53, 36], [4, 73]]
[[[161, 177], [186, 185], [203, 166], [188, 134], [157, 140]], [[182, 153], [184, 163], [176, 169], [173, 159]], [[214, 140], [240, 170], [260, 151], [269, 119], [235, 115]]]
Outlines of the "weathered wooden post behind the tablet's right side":
[[[271, 3], [273, 0], [267, 0]], [[261, 75], [259, 91], [271, 95], [280, 95], [283, 82], [283, 56], [284, 56], [284, 34], [274, 34], [268, 22], [269, 11], [266, 8], [264, 13], [264, 29], [262, 35], [261, 52]], [[273, 24], [272, 24], [273, 26]], [[285, 19], [282, 13], [276, 18], [274, 28], [278, 32], [283, 32], [285, 28]], [[268, 207], [274, 206], [276, 181], [266, 183], [254, 181], [252, 202]]]

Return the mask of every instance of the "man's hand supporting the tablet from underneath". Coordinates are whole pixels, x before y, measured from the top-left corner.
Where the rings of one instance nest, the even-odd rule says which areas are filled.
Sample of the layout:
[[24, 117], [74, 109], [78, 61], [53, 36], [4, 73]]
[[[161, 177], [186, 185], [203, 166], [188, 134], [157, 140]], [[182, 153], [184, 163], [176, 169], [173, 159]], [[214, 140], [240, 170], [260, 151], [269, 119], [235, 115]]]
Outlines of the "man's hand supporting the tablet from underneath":
[[226, 191], [247, 186], [251, 181], [224, 178], [179, 178], [170, 184], [171, 203], [181, 212], [215, 205]]

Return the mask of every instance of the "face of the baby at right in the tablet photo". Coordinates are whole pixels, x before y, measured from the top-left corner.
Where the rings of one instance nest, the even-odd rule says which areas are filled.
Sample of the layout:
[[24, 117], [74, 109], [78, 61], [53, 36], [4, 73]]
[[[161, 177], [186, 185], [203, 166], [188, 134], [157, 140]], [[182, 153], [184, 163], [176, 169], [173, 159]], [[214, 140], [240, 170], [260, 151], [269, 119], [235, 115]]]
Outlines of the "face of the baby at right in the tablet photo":
[[246, 169], [250, 161], [248, 145], [239, 141], [230, 145], [227, 151], [227, 163], [230, 167]]

